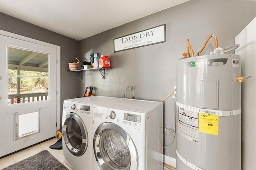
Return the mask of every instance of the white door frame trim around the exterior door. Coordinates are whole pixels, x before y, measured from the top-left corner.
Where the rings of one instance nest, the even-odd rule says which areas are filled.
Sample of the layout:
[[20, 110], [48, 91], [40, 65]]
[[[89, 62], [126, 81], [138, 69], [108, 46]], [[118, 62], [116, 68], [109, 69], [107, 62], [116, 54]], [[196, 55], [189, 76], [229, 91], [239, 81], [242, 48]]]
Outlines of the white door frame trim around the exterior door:
[[[55, 48], [57, 50], [57, 96], [56, 96], [56, 99], [57, 99], [57, 106], [56, 106], [56, 111], [57, 111], [57, 114], [56, 114], [56, 121], [57, 121], [57, 127], [56, 128], [60, 128], [60, 46], [58, 45], [53, 45], [53, 44], [50, 44], [50, 43], [46, 43], [46, 42], [43, 42], [43, 41], [39, 41], [39, 40], [36, 40], [36, 39], [32, 39], [32, 38], [28, 38], [28, 37], [25, 37], [25, 36], [22, 36], [22, 35], [18, 35], [18, 34], [15, 34], [15, 33], [11, 33], [11, 32], [8, 32], [8, 31], [4, 31], [2, 29], [0, 29], [0, 35], [5, 35], [7, 37], [12, 37], [12, 38], [16, 38], [16, 39], [20, 39], [20, 40], [24, 40], [24, 41], [28, 41], [28, 42], [31, 42], [31, 43], [36, 43], [36, 44], [39, 44], [39, 45], [44, 45], [44, 46], [47, 46], [47, 47], [52, 47], [52, 48]], [[56, 62], [57, 62], [56, 61]]]

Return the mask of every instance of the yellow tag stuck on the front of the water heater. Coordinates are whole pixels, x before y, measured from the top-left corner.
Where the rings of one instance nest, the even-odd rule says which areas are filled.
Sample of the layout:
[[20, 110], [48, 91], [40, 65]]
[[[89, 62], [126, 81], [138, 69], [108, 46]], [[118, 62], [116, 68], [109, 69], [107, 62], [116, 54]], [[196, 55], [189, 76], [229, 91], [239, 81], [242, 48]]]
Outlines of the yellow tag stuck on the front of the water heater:
[[198, 115], [198, 131], [208, 133], [211, 135], [218, 135], [219, 133], [219, 116], [207, 113], [199, 113]]

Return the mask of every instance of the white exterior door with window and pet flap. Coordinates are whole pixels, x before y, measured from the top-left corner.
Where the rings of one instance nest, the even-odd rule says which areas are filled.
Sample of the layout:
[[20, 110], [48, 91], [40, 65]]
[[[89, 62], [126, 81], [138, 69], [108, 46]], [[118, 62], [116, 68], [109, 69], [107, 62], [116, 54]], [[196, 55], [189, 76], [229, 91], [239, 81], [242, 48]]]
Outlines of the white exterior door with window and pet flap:
[[57, 49], [0, 35], [0, 156], [56, 135]]

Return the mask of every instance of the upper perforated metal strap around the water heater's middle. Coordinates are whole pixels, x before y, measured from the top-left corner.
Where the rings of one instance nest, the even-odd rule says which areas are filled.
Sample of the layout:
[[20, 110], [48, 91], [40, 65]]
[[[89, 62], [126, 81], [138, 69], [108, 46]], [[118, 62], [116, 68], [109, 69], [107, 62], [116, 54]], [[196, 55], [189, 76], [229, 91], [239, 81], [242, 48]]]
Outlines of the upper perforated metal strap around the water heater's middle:
[[193, 106], [180, 104], [177, 101], [176, 101], [176, 105], [179, 106], [179, 107], [182, 107], [184, 109], [188, 109], [190, 111], [196, 111], [196, 112], [200, 112], [200, 113], [208, 113], [208, 114], [219, 115], [219, 116], [232, 116], [232, 115], [238, 115], [238, 114], [241, 113], [241, 109], [230, 110], [230, 111], [202, 109], [202, 108], [198, 108], [198, 107], [193, 107]]

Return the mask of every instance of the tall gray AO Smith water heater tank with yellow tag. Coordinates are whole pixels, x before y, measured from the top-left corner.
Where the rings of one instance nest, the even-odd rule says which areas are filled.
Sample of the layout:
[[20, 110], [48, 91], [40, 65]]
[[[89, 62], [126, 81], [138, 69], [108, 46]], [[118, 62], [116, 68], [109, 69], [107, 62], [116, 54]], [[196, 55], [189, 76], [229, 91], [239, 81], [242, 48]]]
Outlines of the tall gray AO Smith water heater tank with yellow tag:
[[239, 55], [178, 61], [177, 170], [241, 170], [240, 75]]

